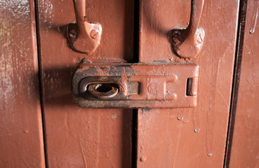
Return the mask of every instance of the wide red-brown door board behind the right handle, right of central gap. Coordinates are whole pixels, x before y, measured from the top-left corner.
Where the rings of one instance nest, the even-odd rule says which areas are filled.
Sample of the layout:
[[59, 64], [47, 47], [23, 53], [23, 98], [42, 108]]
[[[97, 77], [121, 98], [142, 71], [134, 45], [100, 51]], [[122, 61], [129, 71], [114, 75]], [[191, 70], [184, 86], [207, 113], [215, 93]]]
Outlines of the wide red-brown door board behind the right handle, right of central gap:
[[200, 72], [196, 108], [138, 111], [138, 167], [223, 167], [239, 1], [205, 1], [203, 48], [180, 59], [170, 32], [187, 27], [190, 3], [140, 0], [140, 62], [194, 62]]

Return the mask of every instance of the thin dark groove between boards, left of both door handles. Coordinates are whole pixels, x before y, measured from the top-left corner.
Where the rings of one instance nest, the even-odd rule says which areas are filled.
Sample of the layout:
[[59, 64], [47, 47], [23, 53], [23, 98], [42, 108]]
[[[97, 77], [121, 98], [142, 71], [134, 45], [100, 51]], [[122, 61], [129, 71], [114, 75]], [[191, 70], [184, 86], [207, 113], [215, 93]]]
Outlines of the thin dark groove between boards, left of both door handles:
[[46, 146], [46, 130], [45, 130], [45, 116], [44, 116], [44, 99], [43, 99], [43, 90], [44, 86], [42, 84], [42, 68], [41, 68], [41, 43], [39, 35], [39, 8], [38, 1], [34, 0], [34, 10], [35, 10], [35, 23], [36, 23], [36, 45], [37, 45], [37, 55], [38, 55], [38, 67], [39, 67], [39, 99], [41, 103], [41, 120], [42, 120], [42, 132], [43, 132], [43, 141], [44, 141], [44, 158], [45, 165], [48, 168], [48, 155], [47, 155], [47, 146]]

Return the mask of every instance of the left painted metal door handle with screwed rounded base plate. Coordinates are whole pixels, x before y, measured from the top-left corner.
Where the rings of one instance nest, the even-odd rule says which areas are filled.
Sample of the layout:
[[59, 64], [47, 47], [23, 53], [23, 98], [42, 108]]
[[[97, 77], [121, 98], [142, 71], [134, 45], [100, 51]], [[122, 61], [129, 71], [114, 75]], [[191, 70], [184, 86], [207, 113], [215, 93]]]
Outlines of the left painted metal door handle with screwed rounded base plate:
[[91, 54], [100, 45], [102, 26], [86, 19], [86, 0], [73, 0], [77, 23], [67, 25], [69, 44], [77, 52]]

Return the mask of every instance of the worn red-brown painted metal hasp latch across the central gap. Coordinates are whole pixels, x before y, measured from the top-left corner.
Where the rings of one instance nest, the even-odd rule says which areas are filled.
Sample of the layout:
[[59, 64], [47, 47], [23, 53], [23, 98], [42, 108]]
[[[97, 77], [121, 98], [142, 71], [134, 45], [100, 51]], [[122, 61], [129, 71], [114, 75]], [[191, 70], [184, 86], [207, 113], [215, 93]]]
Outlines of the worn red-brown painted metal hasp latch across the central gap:
[[79, 64], [72, 93], [82, 108], [183, 108], [197, 106], [199, 66]]

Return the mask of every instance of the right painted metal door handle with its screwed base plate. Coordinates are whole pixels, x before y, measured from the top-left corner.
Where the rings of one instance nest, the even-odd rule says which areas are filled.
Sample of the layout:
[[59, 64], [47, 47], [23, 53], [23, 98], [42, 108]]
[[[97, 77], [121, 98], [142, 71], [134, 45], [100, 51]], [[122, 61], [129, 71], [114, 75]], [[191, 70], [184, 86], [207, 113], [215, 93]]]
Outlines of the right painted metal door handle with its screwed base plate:
[[173, 29], [173, 50], [179, 57], [192, 58], [199, 54], [205, 31], [199, 27], [204, 0], [192, 0], [190, 24], [187, 29]]

